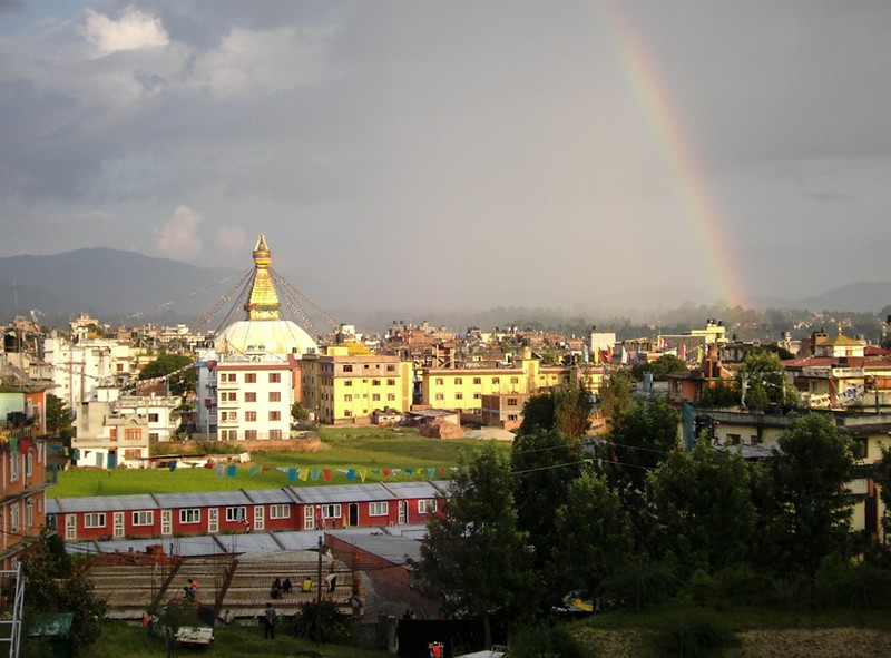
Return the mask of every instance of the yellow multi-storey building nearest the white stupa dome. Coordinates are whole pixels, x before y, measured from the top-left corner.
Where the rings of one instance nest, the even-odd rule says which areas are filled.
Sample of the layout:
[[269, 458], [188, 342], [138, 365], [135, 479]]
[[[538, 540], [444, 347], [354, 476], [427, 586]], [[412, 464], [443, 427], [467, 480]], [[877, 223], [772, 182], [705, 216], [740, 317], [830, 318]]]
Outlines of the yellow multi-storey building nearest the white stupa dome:
[[370, 353], [364, 345], [330, 345], [304, 354], [303, 406], [321, 423], [368, 423], [374, 410], [409, 411], [412, 363]]

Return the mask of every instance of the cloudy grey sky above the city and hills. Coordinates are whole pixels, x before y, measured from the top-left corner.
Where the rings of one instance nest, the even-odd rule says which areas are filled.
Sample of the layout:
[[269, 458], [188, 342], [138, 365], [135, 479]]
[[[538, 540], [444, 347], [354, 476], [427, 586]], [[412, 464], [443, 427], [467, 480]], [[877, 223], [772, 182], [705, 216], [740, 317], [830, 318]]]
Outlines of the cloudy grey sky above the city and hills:
[[891, 3], [0, 0], [0, 257], [322, 306], [891, 279]]

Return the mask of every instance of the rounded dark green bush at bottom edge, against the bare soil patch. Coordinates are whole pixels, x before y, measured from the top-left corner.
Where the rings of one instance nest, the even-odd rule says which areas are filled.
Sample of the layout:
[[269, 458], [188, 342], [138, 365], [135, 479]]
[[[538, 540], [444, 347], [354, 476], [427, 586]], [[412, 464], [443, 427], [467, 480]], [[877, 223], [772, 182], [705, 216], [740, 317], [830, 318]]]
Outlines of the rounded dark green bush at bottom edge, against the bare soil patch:
[[740, 639], [711, 610], [697, 608], [673, 613], [649, 641], [655, 656], [709, 658], [740, 646]]

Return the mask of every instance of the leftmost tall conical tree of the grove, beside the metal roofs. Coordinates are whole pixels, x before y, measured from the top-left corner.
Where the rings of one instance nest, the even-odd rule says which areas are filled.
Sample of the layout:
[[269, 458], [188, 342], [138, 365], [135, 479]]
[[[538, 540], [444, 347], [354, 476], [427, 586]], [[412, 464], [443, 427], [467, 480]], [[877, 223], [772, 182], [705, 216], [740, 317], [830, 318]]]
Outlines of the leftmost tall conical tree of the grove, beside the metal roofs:
[[443, 513], [428, 524], [419, 587], [444, 609], [480, 618], [491, 646], [489, 615], [523, 602], [531, 556], [517, 527], [507, 455], [487, 443], [460, 467]]

